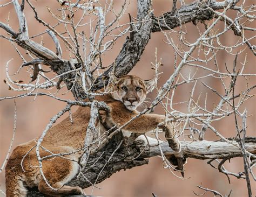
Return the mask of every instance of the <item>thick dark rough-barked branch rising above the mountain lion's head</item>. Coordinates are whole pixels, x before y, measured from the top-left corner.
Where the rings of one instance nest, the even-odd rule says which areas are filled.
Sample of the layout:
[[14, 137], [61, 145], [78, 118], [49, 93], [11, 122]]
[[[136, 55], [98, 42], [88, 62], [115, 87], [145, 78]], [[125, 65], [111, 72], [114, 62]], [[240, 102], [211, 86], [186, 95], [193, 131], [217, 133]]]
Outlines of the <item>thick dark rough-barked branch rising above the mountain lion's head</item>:
[[140, 60], [147, 43], [151, 38], [152, 21], [151, 12], [152, 4], [150, 0], [138, 0], [137, 18], [142, 23], [139, 23], [138, 32], [133, 33], [133, 39], [126, 38], [122, 50], [118, 54], [112, 66], [98, 77], [95, 82], [97, 88], [102, 88], [109, 80], [109, 73], [114, 69], [114, 74], [117, 77], [126, 75]]

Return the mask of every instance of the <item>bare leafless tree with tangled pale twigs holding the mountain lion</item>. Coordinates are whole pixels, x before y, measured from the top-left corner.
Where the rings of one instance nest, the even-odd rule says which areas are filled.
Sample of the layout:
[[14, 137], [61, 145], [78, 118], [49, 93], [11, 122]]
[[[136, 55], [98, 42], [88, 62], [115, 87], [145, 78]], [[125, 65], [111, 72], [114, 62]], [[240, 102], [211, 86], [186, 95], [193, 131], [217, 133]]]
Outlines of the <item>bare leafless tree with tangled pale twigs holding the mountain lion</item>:
[[[13, 0], [2, 4], [0, 9], [14, 6], [19, 27], [15, 27], [18, 29], [16, 31], [12, 29], [9, 25], [12, 18], [8, 17], [5, 23], [0, 22], [0, 27], [5, 31], [0, 37], [10, 41], [10, 47], [15, 48], [23, 64], [15, 74], [11, 75], [9, 73], [11, 60], [6, 62], [4, 82], [10, 90], [22, 94], [3, 97], [0, 101], [26, 96], [48, 96], [66, 103], [66, 107], [51, 118], [37, 141], [36, 148], [39, 148], [53, 123], [65, 112], [70, 112], [73, 105], [91, 107], [91, 120], [84, 139], [84, 157], [79, 161], [82, 170], [69, 182], [70, 186], [83, 188], [95, 186], [119, 170], [147, 164], [147, 158], [154, 156], [161, 156], [165, 167], [172, 172], [177, 170], [182, 172], [182, 165], [179, 164], [178, 168], [172, 166], [166, 158], [166, 155], [170, 154], [181, 160], [209, 159], [208, 164], [217, 168], [220, 173], [226, 174], [228, 179], [230, 176], [245, 179], [248, 196], [252, 196], [250, 181], [256, 180], [252, 170], [256, 161], [256, 138], [246, 136], [246, 119], [251, 115], [247, 114], [244, 106], [247, 100], [253, 99], [250, 92], [256, 87], [253, 84], [256, 73], [246, 73], [246, 68], [254, 65], [247, 64], [245, 50], [253, 55], [256, 54], [253, 45], [256, 29], [252, 25], [255, 19], [255, 5], [248, 5], [247, 2], [247, 0], [242, 2], [208, 0], [186, 3], [173, 0], [172, 9], [157, 17], [154, 16], [151, 0], [138, 0], [137, 16], [132, 17], [126, 14], [126, 10], [134, 4], [133, 1], [124, 0], [120, 8], [115, 8], [112, 0], [57, 0], [47, 7], [52, 16], [51, 22], [42, 19], [33, 1]], [[33, 12], [37, 20], [36, 25], [45, 26], [44, 32], [34, 36], [29, 34], [31, 27], [26, 22], [24, 8]], [[129, 22], [123, 22], [122, 19], [125, 17], [129, 18]], [[189, 38], [187, 23], [196, 26], [198, 30], [196, 40]], [[221, 28], [216, 28], [217, 25]], [[107, 85], [111, 83], [111, 76], [126, 75], [136, 66], [154, 32], [162, 33], [165, 37], [164, 42], [174, 50], [174, 72], [164, 85], [159, 87], [161, 59], [158, 58], [156, 50], [156, 53], [152, 54], [155, 56], [155, 62], [151, 65], [155, 71], [155, 85], [151, 90], [155, 89], [156, 96], [152, 102], [146, 103], [139, 116], [152, 112], [157, 105], [161, 105], [165, 110], [166, 122], [172, 123], [180, 139], [183, 140], [181, 152], [172, 151], [167, 143], [161, 140], [160, 130], [150, 133], [154, 138], [132, 135], [126, 139], [120, 132], [125, 125], [104, 133], [107, 137], [95, 148], [93, 144], [99, 142], [102, 136], [93, 133], [96, 130], [94, 123], [98, 118], [98, 110], [107, 110], [107, 106], [94, 100], [94, 96], [109, 93]], [[221, 37], [227, 33], [234, 34], [233, 45], [224, 44]], [[51, 38], [55, 44], [55, 51], [45, 47], [43, 40], [41, 43], [34, 41], [40, 36], [44, 39]], [[125, 36], [123, 47], [114, 62], [104, 65], [104, 55], [112, 50], [118, 39]], [[178, 37], [178, 43], [173, 39], [174, 37]], [[225, 62], [220, 60], [221, 53], [231, 55], [233, 65], [225, 65]], [[196, 69], [189, 71], [190, 68]], [[31, 76], [31, 81], [15, 81], [14, 78], [25, 69]], [[184, 69], [186, 73], [183, 72]], [[207, 83], [209, 79], [219, 80], [221, 88], [216, 89], [214, 85]], [[251, 82], [250, 79], [254, 81]], [[242, 89], [239, 90], [237, 90], [238, 80], [242, 83]], [[196, 93], [199, 84], [204, 88], [201, 89], [201, 94]], [[184, 86], [191, 87], [190, 96], [184, 97], [182, 101], [174, 101], [177, 90]], [[102, 92], [96, 91], [101, 88], [103, 88]], [[75, 100], [58, 97], [62, 89], [71, 92]], [[211, 90], [218, 96], [215, 104], [208, 102], [207, 94], [204, 94], [205, 89]], [[51, 93], [45, 90], [51, 90]], [[89, 98], [91, 102], [84, 102], [85, 98]], [[229, 117], [233, 117], [236, 130], [233, 136], [227, 138], [225, 128], [218, 130], [215, 125], [216, 122]], [[71, 113], [70, 121], [72, 121]], [[16, 129], [12, 140], [15, 131]], [[214, 142], [206, 140], [206, 132], [213, 132], [218, 140]], [[11, 148], [12, 143], [1, 172]], [[44, 159], [61, 157], [65, 154], [72, 153], [52, 153], [47, 158], [41, 158], [38, 151], [37, 158], [40, 164], [38, 167], [42, 168]], [[225, 162], [234, 157], [244, 159], [243, 172], [229, 172], [224, 167]], [[176, 172], [174, 175], [179, 177]], [[198, 187], [213, 192], [214, 195], [223, 196], [212, 189]]]

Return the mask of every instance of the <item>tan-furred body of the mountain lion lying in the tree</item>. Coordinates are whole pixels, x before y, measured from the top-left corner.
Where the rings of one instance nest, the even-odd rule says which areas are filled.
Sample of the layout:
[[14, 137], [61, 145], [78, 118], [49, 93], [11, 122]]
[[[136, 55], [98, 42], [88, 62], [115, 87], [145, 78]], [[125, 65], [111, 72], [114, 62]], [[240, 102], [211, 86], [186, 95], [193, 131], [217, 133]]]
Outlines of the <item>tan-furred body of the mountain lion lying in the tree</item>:
[[[135, 109], [141, 104], [150, 86], [150, 81], [144, 82], [137, 76], [123, 76], [118, 79], [113, 86], [113, 93], [104, 96], [97, 96], [96, 100], [104, 101], [110, 107], [110, 112], [99, 111], [100, 125], [98, 128], [111, 128], [113, 125], [123, 125], [132, 117], [138, 114]], [[126, 87], [126, 88], [122, 88]], [[124, 90], [125, 89], [125, 90]], [[72, 152], [83, 146], [86, 135], [87, 124], [90, 120], [90, 108], [79, 107], [72, 114], [73, 123], [69, 117], [65, 118], [59, 124], [53, 126], [42, 142], [45, 149], [53, 153]], [[144, 114], [134, 119], [130, 124], [124, 127], [125, 132], [145, 133], [156, 129], [159, 123], [164, 122], [163, 115]], [[104, 126], [103, 126], [104, 125]], [[177, 138], [174, 138], [170, 125], [160, 126], [165, 131], [165, 136], [173, 150], [179, 151], [180, 144]], [[36, 144], [37, 139], [24, 143], [16, 147], [6, 165], [6, 195], [7, 196], [25, 196], [25, 187], [38, 187], [39, 191], [46, 195], [71, 195], [82, 194], [82, 188], [65, 186], [78, 172], [78, 161], [81, 153], [65, 156], [76, 160], [70, 161], [65, 158], [55, 157], [49, 160], [43, 160], [43, 172], [50, 185], [59, 188], [53, 191], [42, 179], [39, 172], [38, 161], [35, 149], [33, 149], [24, 159], [22, 170], [21, 161], [24, 155]], [[45, 150], [40, 150], [41, 158], [50, 155]]]

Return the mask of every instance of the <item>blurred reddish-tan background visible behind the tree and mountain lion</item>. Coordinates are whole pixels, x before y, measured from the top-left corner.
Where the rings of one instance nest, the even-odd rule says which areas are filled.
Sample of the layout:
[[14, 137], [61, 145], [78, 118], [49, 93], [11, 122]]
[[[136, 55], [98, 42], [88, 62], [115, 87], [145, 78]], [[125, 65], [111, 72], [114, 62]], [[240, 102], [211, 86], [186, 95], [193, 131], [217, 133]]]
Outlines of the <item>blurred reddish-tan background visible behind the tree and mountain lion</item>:
[[[1, 0], [0, 4], [4, 4], [8, 1]], [[52, 23], [52, 17], [47, 11], [49, 6], [52, 10], [58, 8], [59, 4], [56, 1], [31, 1], [38, 10], [38, 15], [48, 23]], [[253, 4], [253, 0], [247, 1], [247, 4]], [[114, 6], [116, 9], [120, 8], [122, 1], [114, 1]], [[186, 3], [189, 3], [186, 1]], [[180, 5], [180, 4], [178, 4]], [[172, 1], [170, 0], [154, 0], [153, 1], [153, 12], [155, 16], [160, 16], [161, 13], [170, 11], [172, 8]], [[124, 19], [122, 23], [129, 22], [129, 17], [127, 13], [131, 13], [133, 17], [136, 17], [137, 12], [137, 1], [132, 0], [130, 2], [129, 8], [126, 10]], [[34, 13], [28, 6], [25, 6], [25, 16], [29, 24], [29, 34], [30, 36], [41, 33], [45, 30], [42, 24], [38, 24], [34, 18]], [[232, 12], [230, 13], [232, 16]], [[6, 19], [10, 18], [10, 26], [18, 32], [18, 20], [15, 14], [14, 7], [8, 5], [4, 8], [0, 8], [0, 20], [6, 23]], [[216, 29], [223, 28], [223, 23], [219, 23]], [[255, 27], [255, 26], [254, 26]], [[177, 29], [178, 30], [178, 29]], [[186, 24], [186, 39], [189, 41], [195, 41], [198, 36], [198, 30], [196, 26], [191, 24]], [[5, 32], [0, 29], [0, 34], [5, 34]], [[178, 36], [173, 34], [174, 41], [179, 43]], [[37, 37], [34, 40], [41, 43], [42, 37]], [[125, 40], [125, 36], [118, 39], [117, 43], [114, 45], [113, 49], [107, 52], [104, 56], [103, 62], [105, 65], [111, 64], [117, 57], [120, 48], [122, 48]], [[157, 57], [161, 58], [161, 63], [163, 66], [160, 67], [161, 78], [159, 80], [158, 86], [160, 87], [173, 73], [173, 62], [174, 62], [174, 52], [170, 45], [167, 45], [163, 33], [156, 32], [152, 33], [151, 40], [146, 46], [145, 51], [138, 62], [137, 66], [133, 68], [130, 74], [138, 75], [142, 79], [151, 79], [154, 76], [154, 71], [151, 69], [151, 62], [154, 62], [154, 53], [157, 48]], [[220, 41], [225, 46], [231, 46], [238, 40], [234, 36], [232, 31], [226, 32], [220, 37]], [[252, 44], [255, 43], [255, 39], [251, 40]], [[50, 48], [55, 51], [55, 46], [51, 38], [48, 35], [43, 36], [43, 44], [45, 47]], [[245, 46], [241, 46], [245, 48]], [[19, 48], [21, 49], [21, 48]], [[26, 57], [26, 54], [21, 50]], [[65, 53], [65, 52], [64, 52]], [[255, 74], [255, 57], [251, 51], [245, 49], [238, 57], [238, 67], [241, 67], [240, 62], [243, 62], [245, 57], [247, 57], [247, 66], [245, 67], [244, 73]], [[69, 53], [66, 52], [64, 58], [69, 59]], [[232, 71], [234, 56], [229, 55], [225, 51], [220, 51], [217, 54], [218, 64], [220, 70], [226, 72], [225, 63], [227, 67]], [[22, 65], [22, 60], [19, 58], [14, 47], [8, 40], [0, 39], [0, 97], [14, 96], [21, 94], [21, 92], [12, 92], [8, 90], [8, 86], [5, 85], [3, 80], [6, 78], [5, 65], [6, 62], [13, 59], [9, 64], [9, 72], [15, 73], [19, 66]], [[178, 59], [178, 62], [180, 59]], [[208, 65], [210, 68], [215, 68], [214, 65]], [[193, 73], [196, 68], [184, 67], [182, 73], [187, 75], [188, 73]], [[199, 71], [198, 74], [204, 75], [208, 74], [207, 71]], [[14, 80], [23, 80], [25, 82], [30, 81], [26, 69], [14, 76]], [[216, 78], [204, 79], [207, 85], [211, 85], [217, 89], [220, 93], [224, 94], [224, 89], [221, 86], [221, 82]], [[255, 85], [255, 77], [248, 77], [247, 79], [239, 79], [237, 81], [236, 93], [240, 93], [242, 90]], [[227, 81], [228, 84], [228, 81]], [[181, 102], [188, 100], [191, 92], [193, 83], [177, 88], [176, 94], [174, 96], [174, 102]], [[47, 91], [46, 91], [47, 92]], [[49, 90], [51, 93], [55, 93], [56, 89]], [[59, 92], [57, 96], [72, 99], [71, 93], [66, 93], [66, 90]], [[195, 95], [202, 95], [202, 102], [204, 102], [204, 97], [207, 93], [207, 107], [211, 110], [215, 104], [218, 104], [219, 97], [213, 94], [210, 90], [206, 89], [201, 82], [198, 82]], [[250, 94], [255, 94], [253, 90]], [[156, 95], [153, 92], [149, 95], [151, 100]], [[57, 112], [64, 108], [65, 103], [58, 102], [49, 97], [24, 97], [16, 99], [17, 104], [17, 131], [14, 140], [14, 147], [18, 144], [27, 142], [30, 139], [38, 137], [42, 131], [45, 129], [46, 124], [48, 124], [50, 118], [57, 114]], [[246, 101], [241, 109], [247, 109], [247, 114], [252, 115], [247, 118], [247, 136], [255, 137], [255, 127], [256, 127], [256, 107], [255, 98], [251, 98]], [[72, 109], [76, 110], [76, 107]], [[177, 110], [186, 112], [186, 105], [177, 105]], [[242, 110], [241, 110], [242, 111]], [[158, 106], [155, 110], [158, 114], [163, 114], [164, 111], [161, 106]], [[65, 115], [64, 117], [66, 117]], [[64, 117], [58, 120], [61, 121]], [[225, 137], [233, 137], [236, 133], [234, 117], [230, 116], [224, 118], [224, 120], [213, 123], [215, 129], [217, 129]], [[14, 127], [14, 100], [3, 100], [0, 101], [0, 165], [2, 165], [8, 148], [10, 145], [10, 140], [12, 137], [12, 130]], [[216, 140], [218, 139], [212, 133], [212, 131], [207, 130], [205, 139]], [[144, 165], [140, 167], [135, 167], [130, 170], [120, 171], [113, 174], [109, 179], [106, 179], [102, 183], [98, 184], [101, 189], [95, 188], [93, 191], [94, 195], [104, 195], [104, 196], [152, 196], [152, 193], [157, 196], [194, 196], [193, 191], [197, 194], [204, 193], [197, 188], [197, 185], [202, 185], [203, 187], [215, 189], [221, 194], [228, 194], [232, 189], [231, 196], [247, 196], [246, 181], [244, 179], [237, 179], [230, 177], [231, 184], [228, 184], [226, 175], [221, 174], [218, 170], [212, 168], [210, 165], [206, 164], [207, 160], [196, 160], [188, 159], [188, 163], [185, 165], [185, 177], [187, 179], [179, 179], [174, 177], [174, 175], [167, 169], [163, 168], [163, 163], [161, 158], [151, 158], [149, 165]], [[226, 163], [225, 167], [231, 172], [243, 171], [242, 159], [231, 159], [231, 163]], [[252, 189], [255, 195], [256, 187], [255, 182], [252, 180]], [[4, 183], [4, 172], [0, 173], [0, 189], [5, 191]], [[92, 188], [86, 188], [87, 193], [91, 192]], [[1, 195], [1, 194], [0, 194]], [[206, 193], [205, 196], [213, 196], [212, 193]]]

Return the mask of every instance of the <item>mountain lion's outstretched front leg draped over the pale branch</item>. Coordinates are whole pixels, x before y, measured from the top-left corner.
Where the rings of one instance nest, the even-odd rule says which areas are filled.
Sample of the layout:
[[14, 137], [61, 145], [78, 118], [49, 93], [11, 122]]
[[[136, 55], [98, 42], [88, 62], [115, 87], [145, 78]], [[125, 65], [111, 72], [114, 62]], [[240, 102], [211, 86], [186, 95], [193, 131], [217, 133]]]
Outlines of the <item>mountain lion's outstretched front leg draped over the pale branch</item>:
[[[139, 113], [137, 111], [129, 111], [124, 105], [119, 103], [109, 104], [111, 112], [107, 119], [112, 124], [123, 125], [131, 118], [135, 117]], [[179, 152], [181, 150], [179, 139], [175, 136], [173, 128], [170, 123], [164, 123], [165, 116], [158, 114], [143, 114], [135, 118], [132, 122], [124, 127], [124, 130], [136, 133], [145, 133], [156, 129], [157, 127], [163, 129], [165, 137], [172, 150]]]

